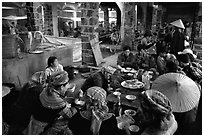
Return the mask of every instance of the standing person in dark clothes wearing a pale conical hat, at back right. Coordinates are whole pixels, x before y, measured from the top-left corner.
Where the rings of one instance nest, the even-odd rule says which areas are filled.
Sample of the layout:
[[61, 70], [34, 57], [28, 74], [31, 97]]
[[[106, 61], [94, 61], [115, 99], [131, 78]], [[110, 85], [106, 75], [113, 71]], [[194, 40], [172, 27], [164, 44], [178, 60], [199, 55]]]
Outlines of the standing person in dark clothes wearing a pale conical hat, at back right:
[[170, 45], [170, 53], [177, 56], [177, 53], [179, 51], [183, 51], [185, 49], [185, 46], [184, 46], [185, 35], [183, 33], [183, 29], [185, 29], [185, 27], [181, 19], [176, 20], [170, 24], [174, 26], [174, 30], [175, 30], [173, 33], [173, 38]]

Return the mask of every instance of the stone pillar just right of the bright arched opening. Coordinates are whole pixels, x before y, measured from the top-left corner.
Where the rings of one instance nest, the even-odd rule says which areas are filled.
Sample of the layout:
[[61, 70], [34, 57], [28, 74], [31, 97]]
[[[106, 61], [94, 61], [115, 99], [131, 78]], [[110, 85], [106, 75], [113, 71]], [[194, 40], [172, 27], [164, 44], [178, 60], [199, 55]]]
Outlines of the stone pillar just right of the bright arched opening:
[[122, 46], [127, 45], [133, 47], [133, 40], [135, 37], [134, 26], [135, 26], [135, 3], [125, 2], [123, 6], [122, 14], [122, 26], [124, 29]]

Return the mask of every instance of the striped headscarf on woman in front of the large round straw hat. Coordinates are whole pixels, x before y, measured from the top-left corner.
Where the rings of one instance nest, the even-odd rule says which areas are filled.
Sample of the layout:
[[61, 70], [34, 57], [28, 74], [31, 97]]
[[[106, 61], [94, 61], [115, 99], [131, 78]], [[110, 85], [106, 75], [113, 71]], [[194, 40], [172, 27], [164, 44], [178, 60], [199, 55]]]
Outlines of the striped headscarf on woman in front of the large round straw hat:
[[159, 114], [170, 115], [172, 106], [169, 99], [157, 90], [146, 90], [142, 93], [142, 106]]

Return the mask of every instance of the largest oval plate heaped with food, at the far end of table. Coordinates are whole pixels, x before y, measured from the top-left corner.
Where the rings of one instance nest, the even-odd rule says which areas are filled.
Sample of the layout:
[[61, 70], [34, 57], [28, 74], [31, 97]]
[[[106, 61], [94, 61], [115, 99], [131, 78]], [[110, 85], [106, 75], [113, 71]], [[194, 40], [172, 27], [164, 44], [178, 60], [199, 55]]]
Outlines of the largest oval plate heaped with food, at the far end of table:
[[140, 89], [144, 87], [144, 83], [137, 79], [126, 80], [121, 83], [121, 86], [128, 89]]

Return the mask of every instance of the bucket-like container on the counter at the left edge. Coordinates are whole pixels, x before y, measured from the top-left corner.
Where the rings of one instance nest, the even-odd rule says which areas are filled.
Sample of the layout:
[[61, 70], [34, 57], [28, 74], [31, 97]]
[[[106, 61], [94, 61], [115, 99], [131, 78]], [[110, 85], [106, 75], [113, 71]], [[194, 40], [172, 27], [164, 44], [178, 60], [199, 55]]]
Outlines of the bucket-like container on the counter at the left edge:
[[15, 58], [17, 55], [16, 35], [2, 35], [2, 58]]

